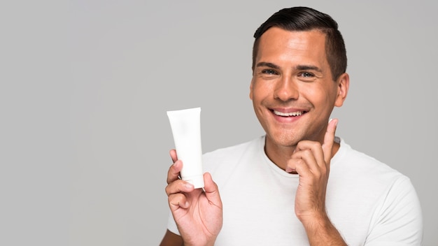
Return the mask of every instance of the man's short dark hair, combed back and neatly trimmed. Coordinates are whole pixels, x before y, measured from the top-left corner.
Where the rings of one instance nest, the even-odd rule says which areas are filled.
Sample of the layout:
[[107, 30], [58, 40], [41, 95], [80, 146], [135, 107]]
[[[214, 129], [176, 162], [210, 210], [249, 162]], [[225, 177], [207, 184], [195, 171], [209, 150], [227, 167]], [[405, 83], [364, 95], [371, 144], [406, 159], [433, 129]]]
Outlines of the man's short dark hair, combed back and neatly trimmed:
[[338, 30], [336, 21], [325, 13], [321, 13], [313, 8], [294, 7], [283, 8], [274, 15], [271, 15], [254, 34], [253, 45], [253, 71], [255, 59], [257, 57], [260, 36], [267, 29], [278, 27], [286, 31], [311, 31], [319, 30], [325, 34], [325, 54], [332, 71], [333, 80], [337, 80], [339, 75], [345, 73], [347, 68], [347, 56], [341, 32]]

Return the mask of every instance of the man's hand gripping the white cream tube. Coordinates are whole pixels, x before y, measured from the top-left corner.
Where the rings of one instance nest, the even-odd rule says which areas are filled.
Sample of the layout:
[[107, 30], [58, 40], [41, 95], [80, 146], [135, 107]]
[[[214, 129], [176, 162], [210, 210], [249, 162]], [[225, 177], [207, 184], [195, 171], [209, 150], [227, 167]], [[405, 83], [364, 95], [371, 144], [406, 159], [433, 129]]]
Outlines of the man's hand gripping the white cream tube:
[[204, 173], [204, 190], [194, 189], [192, 184], [178, 178], [183, 162], [176, 157], [176, 151], [171, 150], [170, 155], [174, 164], [167, 173], [166, 194], [184, 245], [214, 245], [222, 228], [218, 185], [210, 173]]

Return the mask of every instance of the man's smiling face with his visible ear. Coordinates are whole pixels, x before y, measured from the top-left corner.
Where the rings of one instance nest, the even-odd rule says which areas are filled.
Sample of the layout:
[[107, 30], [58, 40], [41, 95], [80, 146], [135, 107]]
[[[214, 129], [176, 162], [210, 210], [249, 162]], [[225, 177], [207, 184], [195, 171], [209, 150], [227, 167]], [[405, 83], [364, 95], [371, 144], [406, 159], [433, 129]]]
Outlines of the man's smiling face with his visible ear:
[[322, 32], [271, 27], [260, 37], [250, 99], [267, 145], [322, 142], [330, 113], [347, 90], [346, 73], [332, 80]]

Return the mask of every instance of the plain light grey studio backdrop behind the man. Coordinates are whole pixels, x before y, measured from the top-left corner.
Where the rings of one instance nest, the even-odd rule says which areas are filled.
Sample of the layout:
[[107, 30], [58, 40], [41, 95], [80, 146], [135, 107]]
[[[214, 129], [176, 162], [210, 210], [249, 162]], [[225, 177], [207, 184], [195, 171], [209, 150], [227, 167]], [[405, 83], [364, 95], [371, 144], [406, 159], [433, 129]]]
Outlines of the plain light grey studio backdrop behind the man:
[[253, 33], [291, 6], [339, 23], [351, 88], [337, 135], [411, 178], [438, 245], [435, 1], [1, 4], [0, 245], [158, 245], [166, 111], [202, 108], [203, 152], [262, 135]]

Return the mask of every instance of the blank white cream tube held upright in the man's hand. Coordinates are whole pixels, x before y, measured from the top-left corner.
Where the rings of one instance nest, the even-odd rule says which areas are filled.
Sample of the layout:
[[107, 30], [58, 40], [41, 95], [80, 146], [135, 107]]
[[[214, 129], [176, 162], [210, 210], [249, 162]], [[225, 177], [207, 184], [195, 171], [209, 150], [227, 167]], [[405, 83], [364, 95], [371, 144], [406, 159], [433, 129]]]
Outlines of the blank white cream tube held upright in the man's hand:
[[183, 161], [181, 178], [195, 189], [204, 187], [201, 147], [201, 108], [167, 111], [176, 154]]

